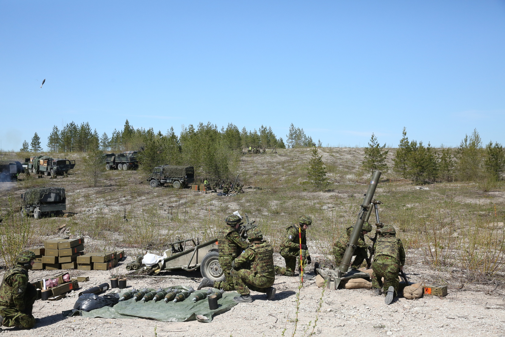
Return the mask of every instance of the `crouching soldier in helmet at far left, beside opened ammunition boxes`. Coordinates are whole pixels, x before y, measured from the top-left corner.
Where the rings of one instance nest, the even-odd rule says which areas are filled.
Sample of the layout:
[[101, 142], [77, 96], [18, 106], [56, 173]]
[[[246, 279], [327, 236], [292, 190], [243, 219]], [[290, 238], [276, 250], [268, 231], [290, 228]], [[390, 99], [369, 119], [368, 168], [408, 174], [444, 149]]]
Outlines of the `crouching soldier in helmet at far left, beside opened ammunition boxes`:
[[17, 264], [4, 275], [0, 285], [0, 315], [4, 326], [30, 329], [35, 325], [32, 310], [37, 291], [28, 282], [28, 270], [32, 268], [34, 260], [33, 252], [21, 252], [16, 257]]

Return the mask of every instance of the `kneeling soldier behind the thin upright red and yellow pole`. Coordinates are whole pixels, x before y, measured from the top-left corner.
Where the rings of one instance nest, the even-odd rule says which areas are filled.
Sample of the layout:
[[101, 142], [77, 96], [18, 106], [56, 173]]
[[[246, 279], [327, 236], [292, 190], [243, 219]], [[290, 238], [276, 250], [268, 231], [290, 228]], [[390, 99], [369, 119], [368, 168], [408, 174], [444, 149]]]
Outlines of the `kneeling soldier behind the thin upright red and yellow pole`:
[[[294, 270], [296, 268], [296, 261], [300, 258], [300, 237], [298, 228], [301, 229], [301, 255], [302, 264], [305, 265], [307, 262], [310, 264], [312, 262], [311, 256], [309, 254], [309, 248], [307, 247], [307, 236], [306, 230], [312, 224], [312, 218], [307, 215], [302, 215], [298, 218], [298, 225], [292, 224], [286, 228], [286, 239], [281, 244], [280, 253], [281, 256], [286, 261], [286, 267], [275, 266], [275, 273], [286, 276], [295, 276]], [[298, 270], [300, 270], [298, 265]]]

